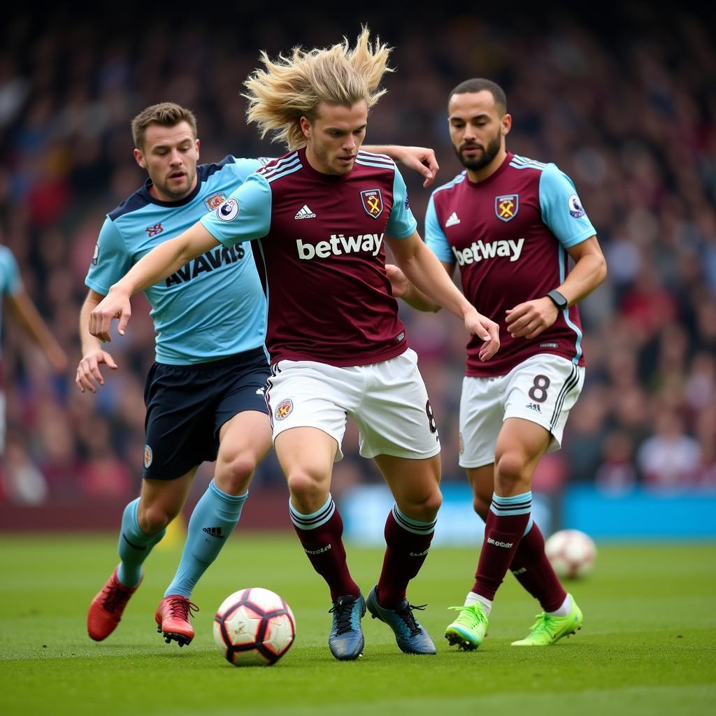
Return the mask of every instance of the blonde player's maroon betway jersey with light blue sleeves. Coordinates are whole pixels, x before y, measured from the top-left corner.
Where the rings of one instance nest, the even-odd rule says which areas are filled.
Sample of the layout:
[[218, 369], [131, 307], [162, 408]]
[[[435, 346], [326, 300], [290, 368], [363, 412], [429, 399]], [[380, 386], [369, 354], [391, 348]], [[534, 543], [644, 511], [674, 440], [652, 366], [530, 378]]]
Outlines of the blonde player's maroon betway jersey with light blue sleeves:
[[407, 238], [417, 223], [389, 157], [359, 151], [352, 170], [336, 176], [298, 150], [258, 170], [202, 223], [227, 247], [260, 239], [272, 363], [367, 365], [407, 349], [384, 237]]

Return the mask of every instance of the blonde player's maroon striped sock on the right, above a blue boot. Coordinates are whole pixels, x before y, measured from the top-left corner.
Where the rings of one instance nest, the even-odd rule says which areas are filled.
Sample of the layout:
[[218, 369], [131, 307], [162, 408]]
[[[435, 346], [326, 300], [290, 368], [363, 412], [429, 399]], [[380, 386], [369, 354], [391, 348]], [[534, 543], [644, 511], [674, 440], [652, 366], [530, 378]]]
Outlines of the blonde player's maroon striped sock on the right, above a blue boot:
[[381, 606], [393, 609], [405, 599], [408, 582], [420, 571], [435, 534], [435, 520], [420, 522], [393, 505], [385, 521], [385, 556], [376, 589]]

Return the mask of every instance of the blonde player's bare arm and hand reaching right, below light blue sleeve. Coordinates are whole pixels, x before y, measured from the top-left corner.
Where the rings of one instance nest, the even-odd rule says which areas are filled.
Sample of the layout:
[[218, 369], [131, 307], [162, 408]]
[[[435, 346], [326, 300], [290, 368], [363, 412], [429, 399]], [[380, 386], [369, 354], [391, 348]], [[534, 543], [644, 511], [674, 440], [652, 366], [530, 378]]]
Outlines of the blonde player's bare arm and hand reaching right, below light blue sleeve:
[[480, 360], [493, 357], [500, 347], [498, 324], [480, 314], [463, 296], [437, 256], [425, 246], [417, 231], [402, 239], [386, 237], [386, 241], [397, 265], [410, 283], [451, 314], [463, 319], [465, 328], [483, 339]]

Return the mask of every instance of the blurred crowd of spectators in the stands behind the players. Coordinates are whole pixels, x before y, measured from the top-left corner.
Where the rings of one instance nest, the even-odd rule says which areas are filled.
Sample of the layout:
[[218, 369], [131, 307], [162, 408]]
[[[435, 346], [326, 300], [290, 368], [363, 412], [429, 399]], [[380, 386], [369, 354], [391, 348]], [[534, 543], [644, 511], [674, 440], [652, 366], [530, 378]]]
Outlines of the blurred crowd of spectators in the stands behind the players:
[[[122, 17], [16, 10], [0, 29], [0, 242], [69, 354], [55, 375], [6, 318], [2, 370], [8, 435], [1, 500], [71, 503], [137, 493], [142, 392], [153, 362], [148, 305], [110, 344], [119, 369], [82, 395], [77, 322], [84, 277], [105, 215], [144, 180], [130, 120], [160, 101], [198, 117], [201, 161], [277, 156], [246, 125], [242, 82], [271, 56], [354, 39], [361, 21], [395, 51], [396, 74], [367, 141], [434, 147], [438, 184], [460, 171], [448, 138], [455, 84], [489, 77], [513, 115], [508, 149], [552, 161], [576, 183], [609, 264], [581, 306], [587, 377], [560, 453], [536, 489], [716, 488], [716, 43], [714, 11], [679, 4], [601, 5], [576, 12], [500, 6], [443, 14], [390, 6], [350, 19], [272, 5], [216, 12], [137, 6]], [[95, 13], [100, 11], [95, 10]], [[104, 10], [102, 12], [105, 12]], [[202, 16], [202, 12], [205, 16]], [[597, 16], [599, 14], [599, 16]], [[421, 231], [430, 190], [405, 172]], [[300, 289], [296, 287], [297, 299]], [[458, 467], [458, 401], [466, 335], [444, 313], [401, 308], [435, 409], [447, 481]], [[110, 374], [112, 373], [112, 374]], [[350, 427], [334, 493], [378, 482]], [[211, 475], [206, 466], [203, 477]], [[204, 480], [200, 490], [204, 489]], [[254, 488], [281, 485], [273, 456]]]

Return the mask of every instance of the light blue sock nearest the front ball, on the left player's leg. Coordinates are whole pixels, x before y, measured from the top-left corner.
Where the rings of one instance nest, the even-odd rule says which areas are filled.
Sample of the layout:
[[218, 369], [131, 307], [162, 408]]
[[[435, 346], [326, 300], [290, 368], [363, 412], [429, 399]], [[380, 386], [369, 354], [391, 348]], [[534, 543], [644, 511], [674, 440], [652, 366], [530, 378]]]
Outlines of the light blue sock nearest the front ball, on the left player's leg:
[[191, 596], [200, 576], [216, 559], [236, 527], [247, 497], [248, 490], [243, 495], [227, 495], [211, 480], [191, 513], [179, 568], [164, 596]]

